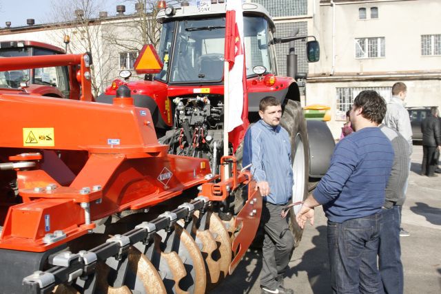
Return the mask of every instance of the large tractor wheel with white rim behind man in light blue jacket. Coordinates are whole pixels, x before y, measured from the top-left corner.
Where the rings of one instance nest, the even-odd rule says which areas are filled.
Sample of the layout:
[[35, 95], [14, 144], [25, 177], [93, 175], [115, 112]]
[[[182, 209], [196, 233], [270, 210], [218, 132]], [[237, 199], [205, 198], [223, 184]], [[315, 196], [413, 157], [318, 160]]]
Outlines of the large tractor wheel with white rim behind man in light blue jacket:
[[[300, 202], [308, 196], [309, 178], [309, 144], [303, 109], [298, 101], [288, 100], [280, 125], [289, 133], [291, 139], [291, 162], [294, 171], [294, 186], [292, 188], [292, 202]], [[296, 213], [301, 205], [291, 209], [289, 229], [294, 234], [295, 246], [298, 246], [302, 238], [303, 230], [296, 222]]]

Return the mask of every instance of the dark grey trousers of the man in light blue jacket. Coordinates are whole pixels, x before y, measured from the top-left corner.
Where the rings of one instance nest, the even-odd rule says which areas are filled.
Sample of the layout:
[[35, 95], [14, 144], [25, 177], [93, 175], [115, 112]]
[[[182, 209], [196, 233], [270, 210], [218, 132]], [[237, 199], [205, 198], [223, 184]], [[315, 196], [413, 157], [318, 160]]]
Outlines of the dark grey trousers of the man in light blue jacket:
[[[288, 217], [280, 213], [285, 205], [263, 202], [262, 222], [265, 229], [263, 240], [263, 264], [260, 273], [260, 286], [269, 289], [278, 287], [278, 279], [285, 276], [285, 271], [294, 250], [294, 237], [289, 231]], [[282, 281], [280, 281], [282, 282]]]

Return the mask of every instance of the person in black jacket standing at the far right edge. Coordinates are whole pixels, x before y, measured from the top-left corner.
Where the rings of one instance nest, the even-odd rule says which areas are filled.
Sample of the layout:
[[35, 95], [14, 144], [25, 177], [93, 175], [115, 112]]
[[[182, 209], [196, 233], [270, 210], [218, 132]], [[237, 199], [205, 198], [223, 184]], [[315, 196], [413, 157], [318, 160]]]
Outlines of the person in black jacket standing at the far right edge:
[[441, 150], [441, 127], [438, 120], [438, 107], [430, 108], [430, 115], [421, 123], [422, 132], [422, 166], [421, 175], [438, 176], [434, 174], [438, 166], [438, 153]]

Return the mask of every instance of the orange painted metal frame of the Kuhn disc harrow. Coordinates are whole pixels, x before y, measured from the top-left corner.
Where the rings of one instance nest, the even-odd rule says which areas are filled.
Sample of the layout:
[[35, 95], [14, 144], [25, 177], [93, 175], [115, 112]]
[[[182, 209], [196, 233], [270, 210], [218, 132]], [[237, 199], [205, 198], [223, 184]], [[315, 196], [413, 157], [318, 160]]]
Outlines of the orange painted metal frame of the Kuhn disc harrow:
[[[81, 100], [92, 98], [90, 81], [84, 78], [88, 68], [83, 54], [4, 60], [0, 70], [79, 64]], [[17, 170], [23, 203], [9, 207], [1, 249], [47, 251], [88, 233], [95, 226], [94, 220], [125, 209], [151, 207], [196, 185], [203, 185], [204, 196], [219, 201], [227, 197], [227, 190], [249, 183], [249, 201], [236, 225], [246, 227], [247, 222], [249, 228], [257, 228], [261, 200], [249, 173], [236, 171], [235, 158], [222, 159], [223, 163], [234, 162], [232, 178], [221, 174], [221, 182], [214, 184], [212, 181], [219, 176], [209, 176], [207, 159], [167, 154], [168, 146], [158, 144], [150, 112], [134, 107], [132, 98], [114, 98], [113, 105], [83, 101], [0, 90], [0, 124], [8, 126], [0, 137], [0, 158], [37, 162], [35, 168]], [[54, 144], [26, 145], [25, 132], [29, 129], [53, 129]], [[41, 155], [28, 154], [36, 151]], [[16, 154], [21, 155], [10, 156]], [[73, 168], [76, 166], [79, 168]], [[258, 213], [253, 214], [253, 209]], [[58, 230], [65, 233], [65, 238], [44, 242], [46, 235]], [[241, 233], [248, 234], [245, 231]], [[233, 250], [243, 254], [247, 242], [236, 242]]]

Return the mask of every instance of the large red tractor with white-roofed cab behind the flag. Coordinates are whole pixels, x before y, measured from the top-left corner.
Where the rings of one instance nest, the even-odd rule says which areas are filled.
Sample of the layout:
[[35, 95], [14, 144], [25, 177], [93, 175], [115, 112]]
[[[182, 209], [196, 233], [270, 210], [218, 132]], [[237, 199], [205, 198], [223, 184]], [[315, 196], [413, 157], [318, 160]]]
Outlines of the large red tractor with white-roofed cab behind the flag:
[[[199, 7], [201, 3], [203, 12]], [[212, 170], [217, 171], [223, 146], [226, 5], [206, 1], [198, 5], [170, 6], [158, 12], [157, 21], [163, 25], [157, 53], [163, 63], [161, 72], [146, 74], [144, 80], [129, 81], [131, 73], [124, 70], [121, 72], [124, 80], [115, 80], [97, 101], [110, 103], [119, 85], [127, 85], [135, 105], [150, 109], [159, 141], [170, 146], [170, 154], [207, 158]], [[295, 36], [297, 31], [294, 36], [274, 38], [274, 21], [267, 10], [256, 3], [243, 3], [243, 19], [249, 122], [258, 119], [261, 98], [274, 96], [282, 103], [281, 124], [291, 135], [291, 154], [294, 154], [292, 201], [298, 202], [327, 171], [335, 145], [326, 123], [306, 121], [300, 106], [295, 78], [305, 78], [305, 74], [296, 70], [294, 40], [314, 36]], [[291, 42], [287, 55], [289, 76], [280, 76], [275, 46], [287, 42]], [[317, 41], [307, 42], [306, 50], [309, 62], [318, 61]], [[142, 52], [138, 60], [141, 58]], [[325, 114], [325, 110], [307, 108], [306, 112], [321, 112], [321, 117]], [[240, 146], [235, 155], [240, 162]], [[241, 201], [240, 196], [234, 200], [236, 210]], [[291, 213], [291, 222], [296, 240], [300, 240], [301, 231], [296, 226], [294, 213]]]

